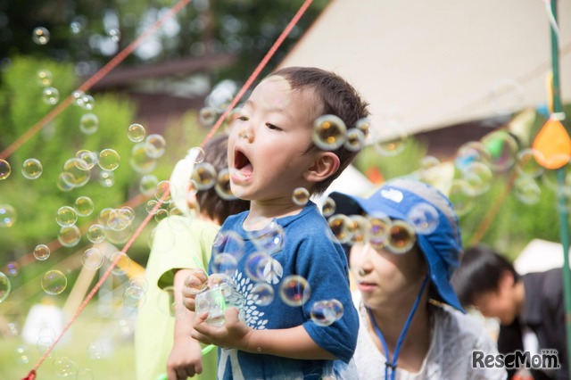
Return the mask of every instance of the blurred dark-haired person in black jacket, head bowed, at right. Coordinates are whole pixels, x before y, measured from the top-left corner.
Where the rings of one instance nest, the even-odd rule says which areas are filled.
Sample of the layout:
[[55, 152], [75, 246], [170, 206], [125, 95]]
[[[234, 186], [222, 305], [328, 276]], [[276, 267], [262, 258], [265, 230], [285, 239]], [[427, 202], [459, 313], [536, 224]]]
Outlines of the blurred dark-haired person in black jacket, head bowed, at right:
[[[555, 268], [519, 276], [508, 260], [478, 245], [466, 251], [452, 285], [462, 304], [500, 320], [498, 351], [534, 355], [557, 350], [561, 368], [531, 369], [531, 373], [535, 379], [567, 379], [562, 274], [561, 268]], [[517, 368], [510, 370], [509, 376], [515, 373]]]

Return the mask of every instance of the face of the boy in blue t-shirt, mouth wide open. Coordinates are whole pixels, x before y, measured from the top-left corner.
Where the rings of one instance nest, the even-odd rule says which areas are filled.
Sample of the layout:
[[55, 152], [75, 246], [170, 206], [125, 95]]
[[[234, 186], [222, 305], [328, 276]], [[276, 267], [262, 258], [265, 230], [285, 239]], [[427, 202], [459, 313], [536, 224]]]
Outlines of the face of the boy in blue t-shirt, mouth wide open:
[[241, 199], [291, 202], [315, 160], [311, 144], [319, 107], [311, 90], [292, 90], [285, 78], [264, 79], [244, 103], [228, 138], [232, 192]]

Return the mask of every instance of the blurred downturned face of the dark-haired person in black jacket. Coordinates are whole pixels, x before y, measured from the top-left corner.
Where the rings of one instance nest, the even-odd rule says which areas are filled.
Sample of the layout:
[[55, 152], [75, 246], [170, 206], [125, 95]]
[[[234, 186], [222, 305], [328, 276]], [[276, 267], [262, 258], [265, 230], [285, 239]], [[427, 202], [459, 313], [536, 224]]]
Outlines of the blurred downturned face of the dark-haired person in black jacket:
[[498, 318], [502, 325], [511, 324], [517, 317], [517, 297], [514, 279], [511, 274], [504, 274], [496, 290], [484, 292], [478, 296], [472, 305], [484, 317]]

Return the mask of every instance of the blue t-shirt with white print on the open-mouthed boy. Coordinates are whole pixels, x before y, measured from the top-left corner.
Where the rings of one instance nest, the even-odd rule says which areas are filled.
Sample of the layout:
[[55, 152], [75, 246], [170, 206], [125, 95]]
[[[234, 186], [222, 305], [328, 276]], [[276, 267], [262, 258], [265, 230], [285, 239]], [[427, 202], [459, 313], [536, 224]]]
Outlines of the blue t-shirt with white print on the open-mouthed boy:
[[[244, 240], [244, 251], [237, 262], [234, 274], [236, 290], [244, 295], [244, 319], [254, 329], [280, 329], [302, 325], [321, 348], [340, 360], [288, 359], [273, 355], [249, 353], [237, 350], [219, 351], [219, 378], [277, 379], [316, 378], [324, 375], [341, 376], [349, 368], [357, 344], [359, 315], [352, 303], [348, 265], [343, 248], [331, 233], [326, 219], [315, 203], [308, 202], [302, 211], [293, 216], [274, 219], [283, 227], [281, 249], [271, 252], [271, 266], [266, 270], [265, 281], [274, 290], [274, 301], [266, 306], [257, 303], [258, 295], [252, 293], [256, 280], [247, 276], [244, 265], [253, 252], [260, 252], [260, 244], [252, 239], [252, 231], [245, 231], [244, 219], [248, 211], [229, 217], [220, 228], [221, 234], [238, 234]], [[255, 234], [255, 232], [253, 232]], [[276, 236], [277, 242], [281, 237]], [[276, 240], [277, 239], [277, 240]], [[282, 242], [278, 242], [277, 246]], [[216, 244], [216, 242], [215, 242]], [[210, 271], [217, 252], [236, 252], [241, 239], [228, 239], [225, 246], [215, 246], [212, 251]], [[223, 245], [224, 245], [223, 244]], [[276, 252], [277, 251], [277, 252]], [[241, 251], [242, 252], [242, 251]], [[251, 272], [250, 272], [251, 273]], [[290, 306], [279, 296], [283, 278], [297, 275], [307, 280], [309, 298], [302, 306]], [[314, 302], [337, 300], [343, 304], [343, 317], [329, 326], [319, 326], [310, 318]]]

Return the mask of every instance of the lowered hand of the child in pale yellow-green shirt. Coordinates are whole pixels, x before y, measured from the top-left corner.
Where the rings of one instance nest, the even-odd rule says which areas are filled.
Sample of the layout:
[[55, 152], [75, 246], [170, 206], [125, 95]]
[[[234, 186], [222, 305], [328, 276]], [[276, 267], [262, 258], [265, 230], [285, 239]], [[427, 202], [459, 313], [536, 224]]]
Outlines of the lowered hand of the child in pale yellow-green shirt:
[[190, 336], [175, 337], [167, 360], [169, 380], [186, 379], [203, 372], [203, 353], [200, 343]]

